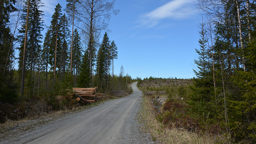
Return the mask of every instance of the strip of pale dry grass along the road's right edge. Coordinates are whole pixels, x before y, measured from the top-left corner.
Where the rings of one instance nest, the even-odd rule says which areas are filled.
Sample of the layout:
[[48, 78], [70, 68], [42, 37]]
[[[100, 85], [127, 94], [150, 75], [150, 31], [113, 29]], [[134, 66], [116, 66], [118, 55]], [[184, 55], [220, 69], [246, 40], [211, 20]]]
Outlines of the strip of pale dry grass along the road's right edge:
[[[144, 124], [143, 130], [150, 132], [153, 140], [162, 144], [213, 144], [223, 143], [222, 136], [199, 135], [188, 132], [183, 129], [169, 129], [164, 124], [157, 121], [156, 116], [159, 115], [158, 110], [154, 107], [151, 100], [144, 97], [142, 108], [140, 111], [140, 120]], [[174, 125], [174, 124], [173, 124]]]

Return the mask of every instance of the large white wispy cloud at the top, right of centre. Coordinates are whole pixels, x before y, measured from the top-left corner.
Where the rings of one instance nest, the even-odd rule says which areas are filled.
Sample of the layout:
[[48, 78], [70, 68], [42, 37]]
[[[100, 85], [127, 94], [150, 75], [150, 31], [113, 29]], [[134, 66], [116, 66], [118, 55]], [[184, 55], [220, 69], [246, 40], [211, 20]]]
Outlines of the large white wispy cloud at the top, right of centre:
[[163, 19], [188, 18], [194, 11], [192, 0], [172, 0], [151, 12], [146, 12], [140, 16], [142, 26], [154, 27]]

